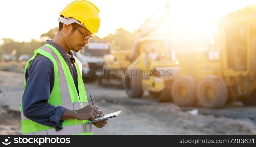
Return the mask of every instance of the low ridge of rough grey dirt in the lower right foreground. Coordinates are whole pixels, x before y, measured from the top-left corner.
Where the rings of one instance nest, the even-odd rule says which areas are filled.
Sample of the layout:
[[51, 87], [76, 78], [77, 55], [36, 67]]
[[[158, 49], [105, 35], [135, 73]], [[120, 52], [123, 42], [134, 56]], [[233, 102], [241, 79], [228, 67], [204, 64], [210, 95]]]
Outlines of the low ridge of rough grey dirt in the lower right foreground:
[[216, 118], [214, 115], [192, 115], [182, 112], [173, 104], [143, 105], [132, 107], [132, 110], [157, 117], [166, 122], [164, 127], [184, 128], [203, 134], [256, 134], [256, 126], [250, 122], [226, 117]]

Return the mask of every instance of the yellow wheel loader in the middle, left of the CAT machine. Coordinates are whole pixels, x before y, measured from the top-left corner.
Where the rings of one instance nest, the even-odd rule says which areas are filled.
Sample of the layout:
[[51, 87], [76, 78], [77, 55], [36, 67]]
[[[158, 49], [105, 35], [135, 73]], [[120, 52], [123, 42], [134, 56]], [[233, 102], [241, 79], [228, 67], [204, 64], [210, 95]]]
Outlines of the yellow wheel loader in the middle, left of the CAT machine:
[[123, 85], [129, 97], [141, 98], [143, 92], [148, 90], [150, 96], [160, 102], [171, 101], [171, 83], [179, 75], [179, 65], [172, 54], [164, 52], [166, 43], [170, 42], [166, 37], [138, 40], [136, 48], [139, 56], [123, 76]]

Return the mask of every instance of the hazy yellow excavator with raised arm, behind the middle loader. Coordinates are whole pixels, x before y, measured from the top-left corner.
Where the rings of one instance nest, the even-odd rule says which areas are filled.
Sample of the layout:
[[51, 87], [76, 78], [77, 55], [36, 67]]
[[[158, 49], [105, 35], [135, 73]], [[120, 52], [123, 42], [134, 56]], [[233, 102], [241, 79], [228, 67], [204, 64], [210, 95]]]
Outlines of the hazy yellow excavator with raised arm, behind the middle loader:
[[[161, 29], [164, 29], [163, 27], [169, 25], [168, 23], [170, 22], [170, 20], [167, 21], [167, 17], [170, 18], [170, 5], [166, 4], [164, 18], [151, 19], [155, 15], [159, 14], [159, 11], [160, 10], [158, 10], [143, 24], [141, 24], [141, 26], [139, 27], [138, 31], [135, 34], [134, 42], [131, 49], [123, 50], [120, 49], [120, 47], [117, 47], [114, 41], [110, 43], [112, 49], [111, 54], [106, 54], [103, 56], [103, 69], [107, 71], [105, 73], [105, 76], [103, 76], [104, 74], [102, 73], [102, 71], [98, 73], [99, 85], [124, 88], [122, 82], [123, 75], [127, 70], [128, 66], [143, 52], [143, 50], [140, 51], [140, 44], [142, 44], [142, 40], [146, 41], [148, 39], [148, 41], [154, 41], [154, 39], [157, 39], [158, 41], [160, 41], [161, 39], [163, 40], [164, 37], [169, 37], [170, 39], [170, 36], [168, 34], [170, 33], [170, 30], [166, 31], [164, 34], [159, 34], [159, 32], [157, 32], [163, 31]], [[158, 35], [155, 35], [153, 33], [157, 33]], [[166, 41], [166, 39], [164, 40]], [[160, 46], [158, 46], [158, 48], [156, 49], [159, 49], [159, 47]]]

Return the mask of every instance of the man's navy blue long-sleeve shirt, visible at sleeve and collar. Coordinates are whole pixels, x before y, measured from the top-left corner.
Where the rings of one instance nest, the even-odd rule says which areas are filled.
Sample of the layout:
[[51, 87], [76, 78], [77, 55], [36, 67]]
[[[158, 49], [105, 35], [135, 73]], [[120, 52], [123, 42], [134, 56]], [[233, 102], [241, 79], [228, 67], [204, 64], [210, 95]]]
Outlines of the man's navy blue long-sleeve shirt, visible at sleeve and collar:
[[[72, 51], [67, 53], [52, 40], [47, 40], [46, 44], [54, 46], [65, 59], [78, 93], [77, 71]], [[26, 87], [22, 97], [24, 115], [37, 123], [54, 127], [56, 131], [62, 130], [63, 120], [60, 119], [66, 108], [62, 106], [55, 107], [47, 103], [54, 86], [54, 66], [52, 61], [38, 53], [29, 64], [25, 79]]]

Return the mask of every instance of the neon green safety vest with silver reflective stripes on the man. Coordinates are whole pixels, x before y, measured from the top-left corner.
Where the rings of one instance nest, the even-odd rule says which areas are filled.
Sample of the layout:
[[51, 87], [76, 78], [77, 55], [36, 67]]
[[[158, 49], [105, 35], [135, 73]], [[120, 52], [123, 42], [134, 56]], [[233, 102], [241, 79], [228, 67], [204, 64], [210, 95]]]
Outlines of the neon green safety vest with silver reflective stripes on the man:
[[[77, 83], [78, 92], [70, 73], [70, 70], [65, 62], [64, 58], [61, 56], [60, 52], [50, 44], [45, 44], [39, 49], [35, 50], [34, 56], [27, 62], [25, 66], [25, 72], [29, 63], [35, 58], [37, 54], [42, 54], [43, 56], [49, 58], [54, 65], [54, 86], [52, 92], [49, 96], [48, 102], [54, 106], [63, 106], [70, 110], [79, 110], [82, 107], [88, 105], [87, 96], [85, 92], [85, 86], [82, 81], [82, 66], [81, 62], [75, 58], [75, 67], [77, 69]], [[44, 65], [42, 65], [42, 68]], [[40, 84], [40, 83], [38, 83]], [[24, 89], [26, 87], [26, 78], [24, 80]], [[20, 103], [21, 111], [21, 122], [22, 122], [22, 133], [24, 135], [69, 135], [69, 134], [79, 134], [88, 135], [92, 133], [92, 124], [85, 124], [89, 120], [77, 120], [68, 119], [64, 120], [62, 123], [63, 129], [61, 131], [56, 131], [55, 128], [46, 125], [39, 124], [28, 119], [23, 114], [22, 101]]]

